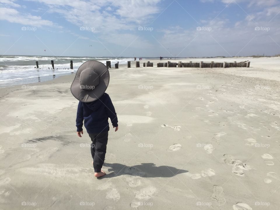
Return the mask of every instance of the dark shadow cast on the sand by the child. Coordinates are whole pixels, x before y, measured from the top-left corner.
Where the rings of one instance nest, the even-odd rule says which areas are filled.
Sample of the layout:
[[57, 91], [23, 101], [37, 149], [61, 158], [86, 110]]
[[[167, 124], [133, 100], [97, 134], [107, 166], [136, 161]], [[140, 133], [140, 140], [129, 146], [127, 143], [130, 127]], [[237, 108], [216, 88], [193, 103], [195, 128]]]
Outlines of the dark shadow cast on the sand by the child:
[[141, 177], [172, 177], [188, 172], [171, 166], [155, 166], [153, 163], [141, 163], [141, 165], [131, 167], [119, 163], [104, 163], [104, 166], [110, 167], [111, 169], [108, 169], [108, 171], [113, 172], [102, 176], [102, 178], [112, 178], [124, 174]]

